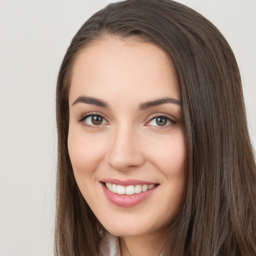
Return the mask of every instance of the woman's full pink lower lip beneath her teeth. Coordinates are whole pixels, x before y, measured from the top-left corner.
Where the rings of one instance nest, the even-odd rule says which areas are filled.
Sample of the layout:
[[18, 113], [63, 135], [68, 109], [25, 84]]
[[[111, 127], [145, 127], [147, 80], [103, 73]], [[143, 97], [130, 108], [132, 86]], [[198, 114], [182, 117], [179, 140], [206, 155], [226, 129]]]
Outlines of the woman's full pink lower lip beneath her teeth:
[[158, 185], [156, 185], [155, 187], [153, 187], [149, 190], [146, 190], [145, 192], [126, 195], [126, 194], [113, 193], [112, 191], [110, 191], [109, 189], [107, 189], [105, 187], [104, 183], [101, 183], [101, 186], [105, 193], [106, 198], [113, 204], [115, 204], [117, 206], [121, 206], [121, 207], [132, 207], [132, 206], [144, 201], [158, 187]]

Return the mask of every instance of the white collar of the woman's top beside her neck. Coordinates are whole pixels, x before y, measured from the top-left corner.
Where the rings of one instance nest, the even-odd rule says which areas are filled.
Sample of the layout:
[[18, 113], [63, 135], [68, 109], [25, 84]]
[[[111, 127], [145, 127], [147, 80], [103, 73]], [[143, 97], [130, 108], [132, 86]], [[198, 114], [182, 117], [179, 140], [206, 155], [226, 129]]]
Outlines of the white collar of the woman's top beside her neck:
[[[100, 243], [99, 255], [121, 256], [119, 237], [106, 231]], [[159, 256], [163, 256], [162, 253]]]

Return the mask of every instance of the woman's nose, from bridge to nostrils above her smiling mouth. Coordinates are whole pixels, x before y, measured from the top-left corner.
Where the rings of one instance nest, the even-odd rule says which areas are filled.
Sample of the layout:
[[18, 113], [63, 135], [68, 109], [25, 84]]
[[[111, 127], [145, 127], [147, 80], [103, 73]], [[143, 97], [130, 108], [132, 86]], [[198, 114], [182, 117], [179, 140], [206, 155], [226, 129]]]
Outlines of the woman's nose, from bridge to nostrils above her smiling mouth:
[[125, 171], [143, 164], [144, 154], [138, 135], [128, 127], [120, 127], [113, 131], [110, 146], [105, 155], [106, 162], [112, 168]]

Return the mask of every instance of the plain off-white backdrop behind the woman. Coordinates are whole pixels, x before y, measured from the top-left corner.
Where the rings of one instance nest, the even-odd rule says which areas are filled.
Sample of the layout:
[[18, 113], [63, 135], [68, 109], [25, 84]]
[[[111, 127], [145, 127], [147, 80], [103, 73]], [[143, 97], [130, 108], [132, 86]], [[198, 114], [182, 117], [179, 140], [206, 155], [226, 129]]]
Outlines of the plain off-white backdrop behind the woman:
[[[242, 75], [256, 145], [256, 1], [179, 0], [212, 21]], [[53, 255], [55, 83], [77, 29], [109, 0], [0, 0], [0, 255]]]

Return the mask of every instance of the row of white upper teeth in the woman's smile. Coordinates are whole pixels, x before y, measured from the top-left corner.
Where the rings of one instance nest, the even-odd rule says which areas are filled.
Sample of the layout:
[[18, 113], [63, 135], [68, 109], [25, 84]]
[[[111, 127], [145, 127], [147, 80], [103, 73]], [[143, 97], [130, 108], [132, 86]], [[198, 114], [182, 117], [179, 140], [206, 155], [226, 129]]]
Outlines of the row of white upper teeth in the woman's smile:
[[128, 186], [122, 186], [122, 185], [116, 185], [116, 184], [111, 184], [106, 182], [106, 187], [117, 194], [127, 194], [127, 195], [132, 195], [134, 193], [140, 193], [140, 192], [145, 192], [146, 190], [152, 189], [155, 187], [155, 184], [150, 184], [150, 185], [128, 185]]

